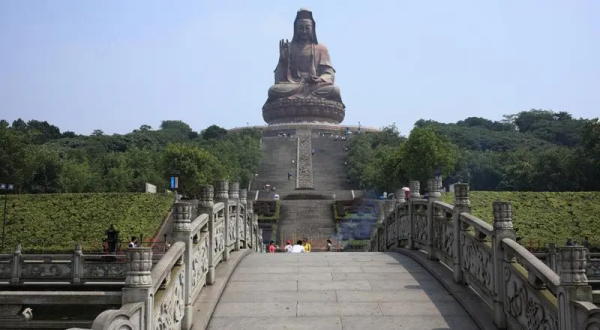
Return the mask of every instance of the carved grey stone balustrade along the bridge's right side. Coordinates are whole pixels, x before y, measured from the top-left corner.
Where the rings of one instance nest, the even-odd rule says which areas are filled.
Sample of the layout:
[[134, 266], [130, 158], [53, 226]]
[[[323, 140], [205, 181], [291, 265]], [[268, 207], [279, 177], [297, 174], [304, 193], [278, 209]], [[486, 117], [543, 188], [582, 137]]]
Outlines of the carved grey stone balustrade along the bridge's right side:
[[600, 260], [587, 248], [551, 246], [543, 261], [517, 242], [510, 202], [494, 202], [488, 224], [471, 215], [468, 184], [455, 184], [454, 205], [440, 201], [439, 178], [428, 180], [427, 199], [414, 193], [418, 182], [410, 186], [408, 200], [396, 192], [393, 211], [372, 233], [371, 251], [418, 251], [443, 263], [456, 283], [477, 293], [500, 329], [600, 328], [590, 285], [600, 279]]

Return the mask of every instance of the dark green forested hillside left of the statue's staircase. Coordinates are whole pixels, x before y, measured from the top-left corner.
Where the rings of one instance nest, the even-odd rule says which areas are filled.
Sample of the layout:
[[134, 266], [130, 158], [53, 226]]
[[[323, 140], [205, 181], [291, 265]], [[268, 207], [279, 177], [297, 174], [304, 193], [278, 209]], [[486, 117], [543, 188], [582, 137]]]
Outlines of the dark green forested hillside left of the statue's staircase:
[[17, 193], [141, 192], [145, 183], [160, 191], [179, 173], [180, 189], [216, 178], [248, 184], [260, 162], [260, 132], [228, 133], [218, 126], [195, 132], [182, 121], [166, 120], [153, 130], [76, 135], [37, 120], [0, 121], [0, 182]]

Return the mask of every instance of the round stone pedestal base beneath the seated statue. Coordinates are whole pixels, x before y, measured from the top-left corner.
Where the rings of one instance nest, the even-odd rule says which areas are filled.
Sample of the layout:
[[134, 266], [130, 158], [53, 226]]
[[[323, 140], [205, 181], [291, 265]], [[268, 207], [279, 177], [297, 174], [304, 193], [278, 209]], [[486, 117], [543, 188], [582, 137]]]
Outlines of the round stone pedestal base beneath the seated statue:
[[263, 119], [269, 125], [285, 123], [331, 123], [344, 121], [343, 103], [316, 99], [279, 99], [263, 106]]

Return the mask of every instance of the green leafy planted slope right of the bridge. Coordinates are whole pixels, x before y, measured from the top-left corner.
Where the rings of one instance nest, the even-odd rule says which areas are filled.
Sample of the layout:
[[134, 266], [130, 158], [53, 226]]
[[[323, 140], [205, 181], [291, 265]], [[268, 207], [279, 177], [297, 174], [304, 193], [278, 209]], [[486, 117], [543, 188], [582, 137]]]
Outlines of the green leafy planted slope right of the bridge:
[[[454, 193], [443, 194], [444, 202], [453, 203]], [[513, 224], [521, 244], [537, 248], [554, 242], [564, 245], [567, 238], [600, 246], [600, 192], [496, 192], [472, 191], [471, 208], [476, 217], [491, 223], [492, 203], [510, 201]]]

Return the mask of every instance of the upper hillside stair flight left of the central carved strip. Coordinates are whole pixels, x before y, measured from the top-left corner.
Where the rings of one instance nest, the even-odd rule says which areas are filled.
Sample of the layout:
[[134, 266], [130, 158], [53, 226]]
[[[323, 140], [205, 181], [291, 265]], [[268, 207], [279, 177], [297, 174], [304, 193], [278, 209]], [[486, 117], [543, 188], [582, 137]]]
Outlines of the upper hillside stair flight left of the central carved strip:
[[296, 175], [296, 163], [292, 163], [292, 159], [296, 158], [297, 145], [297, 138], [263, 138], [263, 158], [258, 167], [258, 176], [252, 182], [252, 190], [260, 191], [269, 184], [275, 187], [276, 191], [274, 193], [260, 191], [259, 199], [270, 199], [269, 197], [275, 193], [288, 192], [296, 188], [295, 177], [288, 180], [287, 175], [290, 172]]

